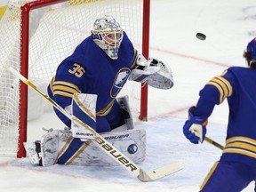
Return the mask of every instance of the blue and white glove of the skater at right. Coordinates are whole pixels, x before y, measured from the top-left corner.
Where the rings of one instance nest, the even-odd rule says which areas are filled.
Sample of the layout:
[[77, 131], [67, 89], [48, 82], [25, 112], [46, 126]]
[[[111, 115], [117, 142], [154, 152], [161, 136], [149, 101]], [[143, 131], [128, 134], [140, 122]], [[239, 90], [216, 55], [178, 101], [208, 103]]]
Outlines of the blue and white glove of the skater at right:
[[198, 144], [199, 141], [204, 141], [207, 119], [194, 116], [195, 108], [191, 107], [188, 110], [188, 121], [183, 126], [183, 133], [190, 142]]

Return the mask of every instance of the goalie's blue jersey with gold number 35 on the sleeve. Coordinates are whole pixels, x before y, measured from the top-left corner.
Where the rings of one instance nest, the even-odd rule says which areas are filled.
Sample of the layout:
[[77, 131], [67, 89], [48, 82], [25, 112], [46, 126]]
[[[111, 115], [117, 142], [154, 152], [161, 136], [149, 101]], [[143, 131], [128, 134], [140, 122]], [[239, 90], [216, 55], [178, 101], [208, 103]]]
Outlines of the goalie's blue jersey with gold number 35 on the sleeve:
[[[97, 94], [96, 114], [106, 116], [134, 68], [137, 56], [125, 33], [117, 60], [110, 59], [89, 36], [60, 63], [48, 86], [48, 94], [62, 108], [71, 104], [75, 92]], [[69, 127], [69, 119], [56, 109], [55, 112]]]

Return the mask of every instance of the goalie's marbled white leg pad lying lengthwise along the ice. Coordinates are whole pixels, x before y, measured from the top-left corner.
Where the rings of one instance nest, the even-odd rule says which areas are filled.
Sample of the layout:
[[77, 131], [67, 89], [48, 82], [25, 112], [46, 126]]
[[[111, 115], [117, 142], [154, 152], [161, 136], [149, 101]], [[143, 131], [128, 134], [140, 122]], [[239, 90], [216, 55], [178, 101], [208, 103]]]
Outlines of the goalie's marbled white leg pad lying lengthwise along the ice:
[[[105, 132], [101, 134], [105, 140], [108, 140], [115, 148], [129, 157], [134, 163], [138, 164], [145, 160], [146, 156], [146, 131], [145, 130], [126, 130], [124, 132]], [[44, 134], [41, 140], [42, 165], [51, 166], [60, 163], [63, 156], [72, 153], [61, 164], [75, 164], [84, 166], [116, 166], [119, 165], [110, 156], [106, 156], [102, 148], [91, 140], [83, 142], [81, 147], [74, 151], [74, 139], [72, 133], [68, 130], [54, 130]], [[113, 156], [120, 156], [115, 151]], [[38, 160], [39, 161], [39, 160]], [[35, 161], [35, 164], [38, 164]]]

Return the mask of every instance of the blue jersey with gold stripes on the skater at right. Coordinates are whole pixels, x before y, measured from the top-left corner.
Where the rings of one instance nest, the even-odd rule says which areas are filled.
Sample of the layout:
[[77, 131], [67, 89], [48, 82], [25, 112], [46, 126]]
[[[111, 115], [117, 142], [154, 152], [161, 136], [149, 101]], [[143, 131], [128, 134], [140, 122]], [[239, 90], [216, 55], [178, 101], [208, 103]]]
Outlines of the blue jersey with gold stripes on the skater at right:
[[220, 161], [256, 167], [256, 70], [231, 67], [215, 76], [200, 91], [195, 116], [211, 116], [214, 106], [228, 99], [226, 146]]

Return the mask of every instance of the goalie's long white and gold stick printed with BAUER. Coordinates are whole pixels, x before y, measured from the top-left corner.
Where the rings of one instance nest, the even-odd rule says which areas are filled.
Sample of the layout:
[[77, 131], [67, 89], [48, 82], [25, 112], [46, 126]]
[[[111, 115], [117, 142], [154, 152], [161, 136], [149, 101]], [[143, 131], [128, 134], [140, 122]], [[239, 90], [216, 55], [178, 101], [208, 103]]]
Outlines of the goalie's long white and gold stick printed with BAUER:
[[[36, 92], [38, 92], [42, 97], [44, 97], [45, 100], [48, 100], [52, 104], [52, 106], [60, 110], [60, 112], [63, 115], [67, 116], [69, 119], [75, 118], [76, 120], [79, 120], [76, 116], [70, 116], [64, 108], [61, 108], [48, 95], [44, 94], [44, 92], [41, 92], [40, 90], [38, 90], [35, 84], [30, 82], [25, 76], [22, 76], [14, 68], [10, 67], [8, 68], [8, 70], [12, 72], [13, 75], [19, 77], [19, 79], [23, 83], [27, 84], [28, 86], [33, 88]], [[124, 156], [123, 153], [118, 151], [118, 149], [116, 149], [112, 144], [110, 144], [108, 140], [105, 140], [99, 133], [95, 132], [91, 127], [84, 126], [84, 128], [95, 135], [95, 140], [92, 140], [92, 141], [98, 144], [99, 148], [101, 148], [106, 154], [108, 154], [108, 156], [112, 157], [118, 164], [122, 165], [126, 170], [128, 170], [129, 172], [132, 172], [141, 181], [147, 182], [147, 181], [158, 180], [174, 172], [178, 172], [183, 168], [180, 162], [174, 162], [171, 164], [166, 164], [163, 167], [160, 167], [156, 170], [143, 171], [138, 165], [134, 164], [132, 160]]]

